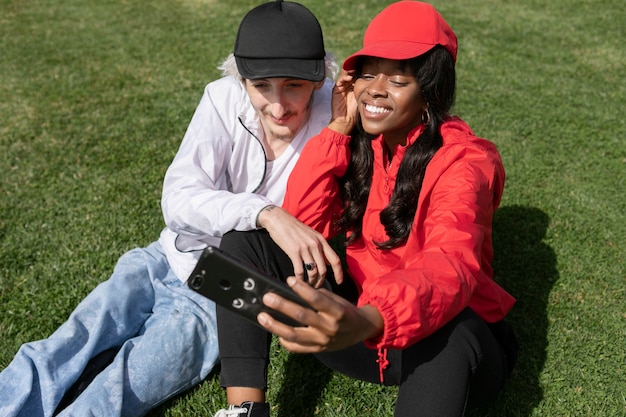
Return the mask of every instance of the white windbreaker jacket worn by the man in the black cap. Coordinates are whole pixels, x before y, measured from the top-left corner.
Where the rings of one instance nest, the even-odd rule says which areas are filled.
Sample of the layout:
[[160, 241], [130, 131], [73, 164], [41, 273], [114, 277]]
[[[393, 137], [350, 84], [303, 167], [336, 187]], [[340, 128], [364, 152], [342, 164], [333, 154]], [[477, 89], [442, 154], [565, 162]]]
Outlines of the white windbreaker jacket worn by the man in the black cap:
[[311, 116], [275, 161], [266, 161], [263, 129], [243, 83], [208, 84], [165, 174], [159, 242], [171, 268], [186, 281], [202, 250], [231, 230], [253, 230], [269, 204], [281, 205], [289, 173], [309, 138], [328, 125], [333, 83], [313, 94]]

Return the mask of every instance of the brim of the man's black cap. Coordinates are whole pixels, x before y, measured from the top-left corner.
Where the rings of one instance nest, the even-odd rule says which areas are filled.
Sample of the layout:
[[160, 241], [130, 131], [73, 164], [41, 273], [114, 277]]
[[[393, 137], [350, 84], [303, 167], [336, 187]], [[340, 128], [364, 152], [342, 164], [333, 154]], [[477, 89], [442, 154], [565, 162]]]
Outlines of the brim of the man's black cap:
[[237, 69], [249, 80], [259, 78], [297, 78], [322, 81], [326, 75], [323, 59], [257, 59], [235, 57]]

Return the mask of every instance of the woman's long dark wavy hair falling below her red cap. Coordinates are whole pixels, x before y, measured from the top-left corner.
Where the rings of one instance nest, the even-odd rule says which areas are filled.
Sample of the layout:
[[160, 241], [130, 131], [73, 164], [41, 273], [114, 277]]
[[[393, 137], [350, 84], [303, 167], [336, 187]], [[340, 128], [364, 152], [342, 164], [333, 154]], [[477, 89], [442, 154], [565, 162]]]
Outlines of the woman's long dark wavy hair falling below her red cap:
[[[362, 64], [362, 61], [357, 63], [357, 76]], [[442, 145], [440, 128], [449, 117], [456, 88], [454, 60], [442, 46], [436, 46], [419, 57], [404, 61], [403, 64], [413, 72], [421, 87], [422, 100], [427, 105], [430, 120], [422, 134], [407, 148], [391, 201], [380, 213], [380, 222], [389, 236], [385, 242], [375, 242], [380, 249], [401, 246], [409, 236], [426, 166]], [[345, 208], [337, 220], [337, 226], [348, 232], [346, 245], [361, 237], [374, 162], [371, 146], [374, 136], [367, 134], [360, 122], [351, 135], [350, 162], [340, 182]]]

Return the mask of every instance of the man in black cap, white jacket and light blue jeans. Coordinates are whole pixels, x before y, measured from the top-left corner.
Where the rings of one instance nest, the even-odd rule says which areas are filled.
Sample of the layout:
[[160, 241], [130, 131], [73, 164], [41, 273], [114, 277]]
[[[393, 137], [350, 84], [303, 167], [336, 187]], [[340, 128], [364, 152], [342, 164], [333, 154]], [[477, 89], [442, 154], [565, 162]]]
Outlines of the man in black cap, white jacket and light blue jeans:
[[1, 416], [142, 416], [215, 366], [215, 305], [186, 280], [207, 245], [282, 203], [302, 147], [330, 120], [337, 65], [315, 16], [273, 1], [246, 14], [220, 68], [165, 175], [160, 238], [20, 347], [0, 373]]

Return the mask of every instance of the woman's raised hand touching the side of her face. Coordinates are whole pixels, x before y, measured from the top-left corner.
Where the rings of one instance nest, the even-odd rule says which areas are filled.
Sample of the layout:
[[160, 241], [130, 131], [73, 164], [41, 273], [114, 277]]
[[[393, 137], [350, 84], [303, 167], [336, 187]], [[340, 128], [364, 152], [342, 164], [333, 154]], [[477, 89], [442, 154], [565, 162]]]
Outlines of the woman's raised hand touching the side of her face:
[[352, 132], [357, 121], [358, 107], [353, 90], [355, 73], [342, 70], [333, 87], [332, 118], [328, 127], [344, 135]]

